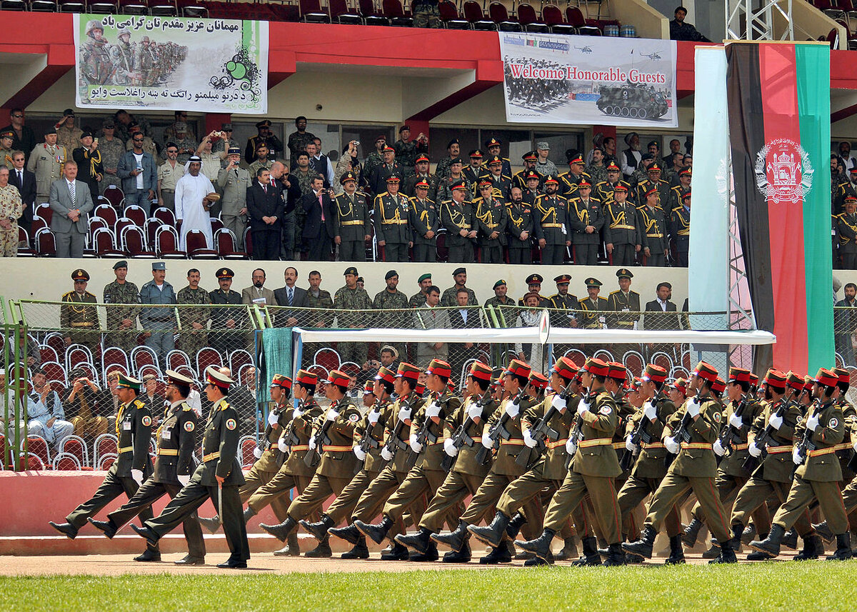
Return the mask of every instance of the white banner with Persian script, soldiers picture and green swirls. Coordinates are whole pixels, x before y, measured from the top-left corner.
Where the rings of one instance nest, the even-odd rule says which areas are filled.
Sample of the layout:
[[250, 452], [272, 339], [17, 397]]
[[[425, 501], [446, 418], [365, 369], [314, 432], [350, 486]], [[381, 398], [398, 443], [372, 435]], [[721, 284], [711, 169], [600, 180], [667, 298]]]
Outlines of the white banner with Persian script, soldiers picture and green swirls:
[[75, 15], [78, 108], [267, 112], [267, 21]]

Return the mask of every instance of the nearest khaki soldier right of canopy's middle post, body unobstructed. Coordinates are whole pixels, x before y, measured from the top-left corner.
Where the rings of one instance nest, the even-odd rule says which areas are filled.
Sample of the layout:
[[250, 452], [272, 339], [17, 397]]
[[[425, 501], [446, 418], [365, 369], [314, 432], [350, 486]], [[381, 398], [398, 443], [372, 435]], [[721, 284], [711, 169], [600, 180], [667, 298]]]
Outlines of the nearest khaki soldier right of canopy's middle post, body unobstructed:
[[[620, 549], [621, 519], [614, 487], [614, 478], [621, 473], [619, 459], [613, 450], [619, 414], [612, 395], [604, 388], [606, 378], [615, 377], [611, 374], [611, 367], [600, 359], [586, 360], [581, 381], [589, 391], [578, 401], [575, 420], [566, 441], [566, 451], [572, 456], [570, 469], [550, 501], [541, 537], [527, 542], [515, 541], [544, 561], [550, 558], [554, 534], [560, 531], [568, 515], [588, 494], [602, 535], [608, 542], [605, 565], [625, 563], [625, 555]], [[557, 408], [562, 406], [557, 405]], [[567, 402], [565, 408], [568, 408]], [[584, 525], [578, 525], [578, 531], [587, 530]], [[586, 552], [584, 549], [584, 555]], [[591, 563], [594, 561], [589, 561]]]

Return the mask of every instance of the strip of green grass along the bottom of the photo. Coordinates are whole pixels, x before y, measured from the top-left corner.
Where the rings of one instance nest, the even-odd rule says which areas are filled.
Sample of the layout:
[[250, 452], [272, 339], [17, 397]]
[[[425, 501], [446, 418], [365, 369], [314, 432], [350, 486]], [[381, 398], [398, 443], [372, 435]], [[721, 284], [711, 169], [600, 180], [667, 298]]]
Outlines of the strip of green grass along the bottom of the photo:
[[[14, 563], [15, 557], [5, 557]], [[854, 610], [857, 561], [12, 577], [6, 610]]]

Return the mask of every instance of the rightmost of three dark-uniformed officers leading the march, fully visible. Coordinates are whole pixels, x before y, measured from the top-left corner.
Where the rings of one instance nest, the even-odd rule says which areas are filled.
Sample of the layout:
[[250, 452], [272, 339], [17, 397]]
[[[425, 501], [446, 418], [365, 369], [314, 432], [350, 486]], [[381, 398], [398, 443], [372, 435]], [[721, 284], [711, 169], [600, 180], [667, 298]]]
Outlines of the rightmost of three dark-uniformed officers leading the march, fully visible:
[[241, 512], [241, 497], [238, 495], [238, 488], [244, 483], [237, 458], [238, 413], [226, 400], [229, 387], [235, 381], [213, 366], [209, 366], [205, 374], [206, 395], [212, 407], [202, 436], [202, 462], [190, 482], [166, 505], [164, 512], [154, 519], [144, 520], [141, 527], [131, 526], [149, 543], [158, 543], [161, 537], [175, 529], [211, 498], [214, 509], [222, 519], [231, 553], [229, 559], [219, 563], [218, 567], [247, 567], [250, 549]]

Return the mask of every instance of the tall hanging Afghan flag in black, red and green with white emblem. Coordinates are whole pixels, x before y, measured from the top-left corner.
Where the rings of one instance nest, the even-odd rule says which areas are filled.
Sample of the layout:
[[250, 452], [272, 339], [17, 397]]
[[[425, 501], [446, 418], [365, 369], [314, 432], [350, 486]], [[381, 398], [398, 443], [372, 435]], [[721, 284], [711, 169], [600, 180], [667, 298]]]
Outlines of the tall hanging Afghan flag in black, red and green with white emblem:
[[758, 372], [832, 367], [830, 46], [736, 41], [726, 57], [741, 249], [756, 325], [776, 335]]

